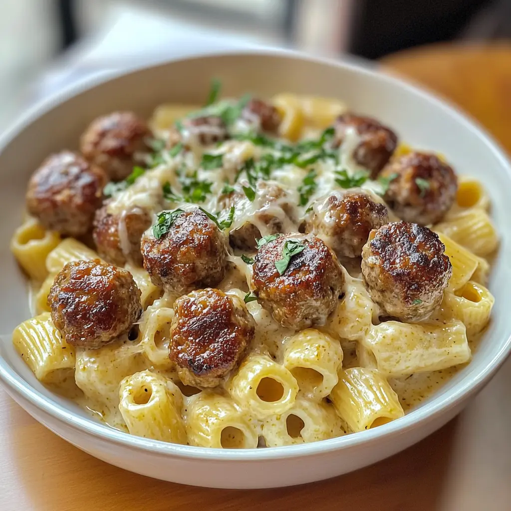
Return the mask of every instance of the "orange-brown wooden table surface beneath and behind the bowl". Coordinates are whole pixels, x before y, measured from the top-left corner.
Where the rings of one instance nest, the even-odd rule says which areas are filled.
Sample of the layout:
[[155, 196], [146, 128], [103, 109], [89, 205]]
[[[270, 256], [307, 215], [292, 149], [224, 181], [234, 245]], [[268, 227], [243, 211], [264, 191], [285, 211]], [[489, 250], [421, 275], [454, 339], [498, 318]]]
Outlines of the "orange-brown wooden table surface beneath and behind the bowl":
[[[511, 46], [441, 45], [384, 65], [458, 103], [511, 151]], [[456, 420], [355, 473], [287, 489], [200, 489], [109, 466], [38, 424], [0, 389], [0, 510], [511, 509], [511, 360]]]

